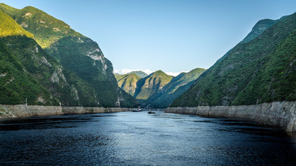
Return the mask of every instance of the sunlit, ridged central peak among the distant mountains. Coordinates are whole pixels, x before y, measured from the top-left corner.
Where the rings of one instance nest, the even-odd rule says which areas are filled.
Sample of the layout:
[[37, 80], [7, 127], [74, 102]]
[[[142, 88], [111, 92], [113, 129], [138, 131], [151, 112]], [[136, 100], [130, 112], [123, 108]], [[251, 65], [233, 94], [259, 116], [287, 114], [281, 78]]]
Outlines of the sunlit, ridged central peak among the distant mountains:
[[173, 76], [166, 75], [163, 71], [155, 71], [150, 75], [141, 78], [137, 82], [137, 88], [134, 92], [134, 98], [146, 100], [173, 79]]

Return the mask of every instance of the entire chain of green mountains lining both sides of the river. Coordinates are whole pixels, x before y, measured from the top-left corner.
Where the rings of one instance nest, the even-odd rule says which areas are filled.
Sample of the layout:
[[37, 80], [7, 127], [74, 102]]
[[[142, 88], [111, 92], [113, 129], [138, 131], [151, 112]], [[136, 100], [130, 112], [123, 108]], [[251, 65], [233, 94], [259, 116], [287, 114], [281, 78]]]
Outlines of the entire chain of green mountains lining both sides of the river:
[[[28, 6], [0, 3], [0, 104], [196, 107], [296, 100], [296, 13], [263, 19], [205, 71], [114, 75], [96, 42]], [[137, 101], [138, 100], [138, 101]]]

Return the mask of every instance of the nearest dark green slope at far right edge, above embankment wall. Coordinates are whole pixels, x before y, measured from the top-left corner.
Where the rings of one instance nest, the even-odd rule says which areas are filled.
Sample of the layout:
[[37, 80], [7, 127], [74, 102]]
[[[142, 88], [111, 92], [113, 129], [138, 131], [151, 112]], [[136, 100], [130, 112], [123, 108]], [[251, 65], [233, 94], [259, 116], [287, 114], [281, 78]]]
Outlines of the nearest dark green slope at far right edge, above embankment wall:
[[260, 73], [238, 93], [234, 104], [296, 100], [296, 29], [262, 61]]

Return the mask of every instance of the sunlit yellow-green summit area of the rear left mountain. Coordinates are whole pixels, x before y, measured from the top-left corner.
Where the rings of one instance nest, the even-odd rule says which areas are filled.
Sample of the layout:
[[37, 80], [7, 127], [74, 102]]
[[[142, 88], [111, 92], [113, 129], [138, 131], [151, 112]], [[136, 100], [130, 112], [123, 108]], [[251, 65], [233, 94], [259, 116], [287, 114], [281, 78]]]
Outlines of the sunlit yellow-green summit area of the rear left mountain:
[[33, 33], [34, 39], [42, 48], [51, 46], [51, 44], [65, 36], [83, 37], [63, 21], [55, 19], [46, 12], [32, 6], [19, 10], [0, 3], [0, 10], [10, 15], [25, 30]]

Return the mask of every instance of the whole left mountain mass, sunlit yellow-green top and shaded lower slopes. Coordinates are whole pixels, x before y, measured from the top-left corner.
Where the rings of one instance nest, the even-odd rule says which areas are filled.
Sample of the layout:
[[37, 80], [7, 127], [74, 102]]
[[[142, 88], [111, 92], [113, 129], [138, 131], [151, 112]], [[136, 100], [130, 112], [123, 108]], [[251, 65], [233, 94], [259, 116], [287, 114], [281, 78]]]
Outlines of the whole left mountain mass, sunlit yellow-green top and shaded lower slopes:
[[[6, 95], [1, 93], [0, 104], [24, 104], [28, 98], [28, 104], [135, 107], [136, 100], [118, 88], [112, 63], [92, 39], [31, 6], [19, 10], [0, 3], [0, 10], [1, 54], [21, 66], [9, 66], [15, 72], [1, 66], [0, 86]], [[28, 82], [17, 83], [21, 73]]]

